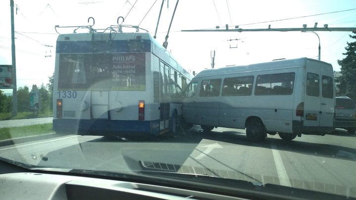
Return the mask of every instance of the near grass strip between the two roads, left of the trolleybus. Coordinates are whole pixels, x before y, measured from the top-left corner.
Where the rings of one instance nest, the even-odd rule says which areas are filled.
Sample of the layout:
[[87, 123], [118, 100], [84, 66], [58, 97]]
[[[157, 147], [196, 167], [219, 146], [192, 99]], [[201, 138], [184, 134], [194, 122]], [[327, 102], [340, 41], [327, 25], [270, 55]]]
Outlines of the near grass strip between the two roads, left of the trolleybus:
[[54, 132], [52, 129], [52, 123], [0, 128], [0, 140], [33, 135], [43, 135], [51, 132]]

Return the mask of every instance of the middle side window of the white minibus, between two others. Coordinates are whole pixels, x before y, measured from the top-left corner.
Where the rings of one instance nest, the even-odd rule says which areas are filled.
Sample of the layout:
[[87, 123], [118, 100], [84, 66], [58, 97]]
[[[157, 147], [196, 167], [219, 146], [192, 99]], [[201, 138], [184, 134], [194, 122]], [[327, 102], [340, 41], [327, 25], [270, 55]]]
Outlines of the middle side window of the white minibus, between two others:
[[222, 96], [251, 95], [253, 81], [254, 76], [226, 78]]

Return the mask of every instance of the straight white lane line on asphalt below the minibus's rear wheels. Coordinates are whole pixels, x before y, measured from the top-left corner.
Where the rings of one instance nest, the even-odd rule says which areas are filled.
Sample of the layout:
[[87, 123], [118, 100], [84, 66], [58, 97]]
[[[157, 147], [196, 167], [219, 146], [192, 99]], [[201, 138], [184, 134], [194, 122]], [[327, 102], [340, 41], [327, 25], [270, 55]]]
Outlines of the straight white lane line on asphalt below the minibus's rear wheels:
[[277, 168], [277, 174], [278, 174], [280, 185], [291, 187], [291, 183], [289, 181], [289, 177], [283, 165], [282, 158], [280, 157], [277, 146], [274, 144], [273, 141], [271, 142], [271, 150], [273, 154], [274, 163]]

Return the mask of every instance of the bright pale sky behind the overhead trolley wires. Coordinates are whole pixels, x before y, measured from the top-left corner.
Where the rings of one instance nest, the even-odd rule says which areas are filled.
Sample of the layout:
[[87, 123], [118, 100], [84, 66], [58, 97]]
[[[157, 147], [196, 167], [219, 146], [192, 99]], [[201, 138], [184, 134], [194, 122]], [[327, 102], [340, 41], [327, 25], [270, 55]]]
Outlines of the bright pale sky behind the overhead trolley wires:
[[[9, 1], [0, 1], [0, 64], [8, 65], [11, 64]], [[164, 2], [156, 39], [159, 43], [165, 40], [176, 2]], [[14, 0], [14, 3], [17, 87], [31, 88], [33, 84], [48, 83], [48, 77], [54, 72], [58, 37], [55, 25], [89, 25], [92, 22], [88, 23], [88, 18], [93, 17], [93, 28], [100, 29], [117, 25], [117, 18], [123, 16], [123, 24], [138, 25], [154, 36], [162, 0]], [[355, 27], [356, 0], [179, 0], [167, 49], [183, 68], [196, 73], [211, 68], [214, 50], [216, 68], [279, 58], [317, 59], [319, 40], [313, 33], [181, 32], [216, 29], [216, 26], [225, 29], [226, 24], [229, 29], [236, 25], [242, 29], [268, 28], [268, 25], [301, 28], [303, 24], [313, 27], [315, 22], [317, 27], [324, 24]], [[60, 29], [62, 34], [72, 32], [73, 28]], [[345, 57], [342, 53], [346, 52], [347, 41], [352, 41], [349, 34], [352, 33], [317, 32], [321, 60], [331, 63], [334, 71], [340, 71], [337, 60]]]

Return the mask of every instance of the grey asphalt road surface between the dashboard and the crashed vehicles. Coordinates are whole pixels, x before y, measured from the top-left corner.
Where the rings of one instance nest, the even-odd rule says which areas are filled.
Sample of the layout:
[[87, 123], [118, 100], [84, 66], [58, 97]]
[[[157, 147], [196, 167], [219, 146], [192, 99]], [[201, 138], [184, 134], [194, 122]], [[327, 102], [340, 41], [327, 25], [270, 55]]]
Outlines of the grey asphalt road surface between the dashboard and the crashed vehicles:
[[[120, 172], [141, 170], [139, 161], [180, 165], [202, 173], [356, 197], [356, 136], [337, 130], [284, 141], [268, 135], [252, 143], [245, 130], [195, 126], [187, 135], [107, 138], [58, 135], [0, 147], [0, 157], [42, 167], [62, 166]], [[191, 171], [193, 170], [193, 171]]]

